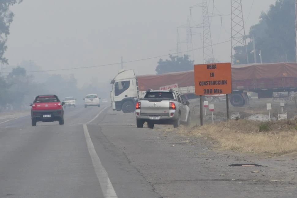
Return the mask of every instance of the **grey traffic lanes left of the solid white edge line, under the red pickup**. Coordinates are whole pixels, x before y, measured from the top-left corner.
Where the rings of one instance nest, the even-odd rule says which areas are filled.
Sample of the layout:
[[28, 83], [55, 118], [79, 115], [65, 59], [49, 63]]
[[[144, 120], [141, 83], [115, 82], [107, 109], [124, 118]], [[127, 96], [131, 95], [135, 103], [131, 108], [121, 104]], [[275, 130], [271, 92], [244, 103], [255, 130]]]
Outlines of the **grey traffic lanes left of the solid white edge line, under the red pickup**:
[[80, 124], [100, 109], [66, 109], [65, 125], [32, 127], [30, 116], [2, 124], [0, 197], [103, 197]]

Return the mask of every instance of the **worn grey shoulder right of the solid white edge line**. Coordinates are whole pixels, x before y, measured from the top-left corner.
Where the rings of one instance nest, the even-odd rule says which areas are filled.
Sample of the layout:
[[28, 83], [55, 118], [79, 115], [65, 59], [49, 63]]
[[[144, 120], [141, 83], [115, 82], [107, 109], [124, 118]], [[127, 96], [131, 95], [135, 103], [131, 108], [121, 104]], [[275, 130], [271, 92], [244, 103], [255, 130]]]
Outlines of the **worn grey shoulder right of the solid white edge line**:
[[[282, 162], [231, 151], [216, 152], [210, 141], [181, 137], [172, 127], [136, 128], [133, 113], [108, 111], [104, 119], [88, 124], [88, 130], [116, 192], [125, 192], [116, 181], [126, 175], [115, 172], [116, 165], [123, 164], [126, 170], [136, 169], [153, 191], [164, 198], [293, 198], [297, 195], [297, 165], [291, 159]], [[103, 150], [109, 150], [109, 154], [105, 156]], [[110, 161], [114, 161], [112, 166]], [[263, 167], [228, 166], [236, 163], [256, 163]], [[133, 177], [127, 180], [135, 180]], [[127, 188], [132, 189], [133, 185], [127, 184]]]

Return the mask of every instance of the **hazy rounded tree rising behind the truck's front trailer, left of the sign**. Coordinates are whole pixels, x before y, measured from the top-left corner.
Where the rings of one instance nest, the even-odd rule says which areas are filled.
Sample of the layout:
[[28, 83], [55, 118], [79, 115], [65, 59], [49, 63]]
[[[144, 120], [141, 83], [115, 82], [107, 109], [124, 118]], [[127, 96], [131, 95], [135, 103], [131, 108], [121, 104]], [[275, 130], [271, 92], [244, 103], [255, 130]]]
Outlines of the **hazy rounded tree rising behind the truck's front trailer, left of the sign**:
[[183, 57], [169, 56], [170, 60], [160, 59], [156, 67], [157, 74], [165, 74], [169, 72], [179, 72], [194, 69], [194, 60], [190, 60], [188, 55]]

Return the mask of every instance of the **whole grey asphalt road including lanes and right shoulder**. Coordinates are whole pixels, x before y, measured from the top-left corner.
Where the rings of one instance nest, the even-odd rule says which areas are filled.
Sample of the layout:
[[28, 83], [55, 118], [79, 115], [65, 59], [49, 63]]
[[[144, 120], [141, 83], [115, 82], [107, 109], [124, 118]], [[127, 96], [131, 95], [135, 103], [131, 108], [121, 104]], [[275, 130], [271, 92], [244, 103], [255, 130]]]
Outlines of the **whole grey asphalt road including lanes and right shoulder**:
[[[0, 198], [297, 197], [295, 163], [214, 152], [104, 106], [64, 118], [32, 127], [30, 116], [0, 117]], [[228, 166], [247, 161], [264, 167]]]

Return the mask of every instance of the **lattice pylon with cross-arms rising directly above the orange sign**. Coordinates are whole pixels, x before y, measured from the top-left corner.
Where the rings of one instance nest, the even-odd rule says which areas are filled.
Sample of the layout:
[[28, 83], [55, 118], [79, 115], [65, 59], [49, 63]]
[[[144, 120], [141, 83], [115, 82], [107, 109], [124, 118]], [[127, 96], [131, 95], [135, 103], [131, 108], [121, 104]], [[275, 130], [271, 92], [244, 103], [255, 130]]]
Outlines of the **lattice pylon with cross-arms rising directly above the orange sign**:
[[[203, 62], [213, 61], [212, 39], [210, 32], [209, 12], [207, 0], [202, 0], [202, 3], [190, 7], [190, 15], [192, 8], [202, 8], [202, 24], [194, 26], [194, 28], [202, 28], [203, 32]], [[219, 16], [219, 15], [214, 15]], [[211, 16], [212, 17], [212, 16]]]

